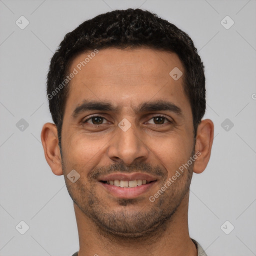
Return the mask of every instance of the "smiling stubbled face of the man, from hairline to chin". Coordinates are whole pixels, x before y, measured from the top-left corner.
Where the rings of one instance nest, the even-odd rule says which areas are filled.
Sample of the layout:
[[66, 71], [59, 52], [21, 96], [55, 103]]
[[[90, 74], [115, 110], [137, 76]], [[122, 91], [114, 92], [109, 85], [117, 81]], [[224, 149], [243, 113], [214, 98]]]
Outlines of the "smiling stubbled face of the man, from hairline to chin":
[[[183, 76], [169, 75], [184, 69], [174, 53], [107, 48], [79, 70], [87, 54], [70, 66], [78, 73], [63, 115], [68, 192], [99, 229], [127, 237], [150, 233], [170, 219], [192, 175], [193, 163], [180, 171], [193, 155], [191, 107]], [[66, 176], [72, 169], [80, 175], [75, 182]]]

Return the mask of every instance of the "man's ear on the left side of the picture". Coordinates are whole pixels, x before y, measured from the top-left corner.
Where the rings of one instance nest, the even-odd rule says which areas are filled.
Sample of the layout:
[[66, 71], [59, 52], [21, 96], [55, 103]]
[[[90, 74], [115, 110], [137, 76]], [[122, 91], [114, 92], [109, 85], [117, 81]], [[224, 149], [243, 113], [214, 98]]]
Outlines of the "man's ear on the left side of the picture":
[[47, 122], [43, 125], [41, 131], [41, 141], [44, 150], [44, 156], [55, 175], [62, 175], [61, 155], [58, 146], [58, 136], [56, 125]]

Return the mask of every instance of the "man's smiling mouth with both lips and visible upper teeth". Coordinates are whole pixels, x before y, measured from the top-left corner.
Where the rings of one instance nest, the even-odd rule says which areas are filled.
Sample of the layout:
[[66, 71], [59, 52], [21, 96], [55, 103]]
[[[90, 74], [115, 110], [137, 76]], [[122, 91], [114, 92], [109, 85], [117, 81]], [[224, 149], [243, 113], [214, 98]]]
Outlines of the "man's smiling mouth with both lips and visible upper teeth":
[[117, 173], [100, 177], [104, 189], [118, 198], [135, 198], [145, 193], [157, 179], [145, 173]]

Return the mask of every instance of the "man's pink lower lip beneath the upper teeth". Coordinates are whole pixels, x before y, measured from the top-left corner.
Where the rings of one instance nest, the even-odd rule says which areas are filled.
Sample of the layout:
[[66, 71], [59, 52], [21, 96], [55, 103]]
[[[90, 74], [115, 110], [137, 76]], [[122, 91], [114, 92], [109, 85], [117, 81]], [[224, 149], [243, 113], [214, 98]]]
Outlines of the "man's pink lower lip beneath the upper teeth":
[[106, 183], [101, 183], [103, 187], [110, 192], [113, 196], [119, 197], [119, 198], [135, 198], [147, 190], [150, 189], [150, 187], [155, 183], [156, 181], [152, 181], [150, 183], [135, 186], [135, 187], [120, 187], [120, 186], [114, 186]]

